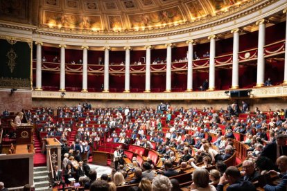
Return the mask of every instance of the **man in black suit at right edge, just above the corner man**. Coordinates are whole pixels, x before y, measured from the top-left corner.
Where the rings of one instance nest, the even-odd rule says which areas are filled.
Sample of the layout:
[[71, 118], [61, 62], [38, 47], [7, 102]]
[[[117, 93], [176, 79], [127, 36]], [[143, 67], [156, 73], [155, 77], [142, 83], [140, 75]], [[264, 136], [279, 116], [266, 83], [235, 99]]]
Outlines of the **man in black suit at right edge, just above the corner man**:
[[276, 142], [272, 142], [267, 144], [263, 151], [261, 152], [261, 156], [266, 156], [270, 158], [273, 163], [276, 162], [276, 159], [279, 156], [287, 155], [287, 136], [285, 134], [279, 134], [276, 137]]

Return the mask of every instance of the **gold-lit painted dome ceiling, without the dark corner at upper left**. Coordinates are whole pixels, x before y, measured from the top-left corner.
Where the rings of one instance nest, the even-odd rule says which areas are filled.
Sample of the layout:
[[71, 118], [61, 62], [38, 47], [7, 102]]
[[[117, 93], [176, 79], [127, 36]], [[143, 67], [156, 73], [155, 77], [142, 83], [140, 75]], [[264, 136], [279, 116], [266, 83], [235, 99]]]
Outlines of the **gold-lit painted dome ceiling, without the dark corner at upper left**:
[[212, 17], [243, 0], [42, 0], [40, 25], [86, 30], [146, 30]]

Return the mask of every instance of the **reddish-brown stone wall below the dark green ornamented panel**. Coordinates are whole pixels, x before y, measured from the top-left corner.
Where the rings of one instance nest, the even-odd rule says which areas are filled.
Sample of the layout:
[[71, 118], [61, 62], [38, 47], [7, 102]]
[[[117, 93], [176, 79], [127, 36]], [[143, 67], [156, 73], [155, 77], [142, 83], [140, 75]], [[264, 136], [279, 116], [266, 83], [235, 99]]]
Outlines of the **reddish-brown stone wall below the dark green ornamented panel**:
[[10, 112], [19, 112], [32, 107], [32, 93], [27, 90], [0, 89], [0, 113], [7, 108]]

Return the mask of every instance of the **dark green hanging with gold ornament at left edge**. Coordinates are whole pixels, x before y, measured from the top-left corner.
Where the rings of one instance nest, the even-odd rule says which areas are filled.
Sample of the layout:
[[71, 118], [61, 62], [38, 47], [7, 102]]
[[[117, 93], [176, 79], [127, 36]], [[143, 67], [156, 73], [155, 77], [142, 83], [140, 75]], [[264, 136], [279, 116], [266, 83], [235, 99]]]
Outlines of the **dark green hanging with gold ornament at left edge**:
[[0, 88], [31, 89], [31, 46], [28, 39], [0, 39]]

